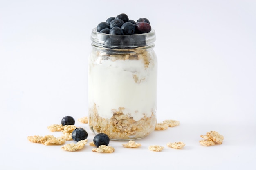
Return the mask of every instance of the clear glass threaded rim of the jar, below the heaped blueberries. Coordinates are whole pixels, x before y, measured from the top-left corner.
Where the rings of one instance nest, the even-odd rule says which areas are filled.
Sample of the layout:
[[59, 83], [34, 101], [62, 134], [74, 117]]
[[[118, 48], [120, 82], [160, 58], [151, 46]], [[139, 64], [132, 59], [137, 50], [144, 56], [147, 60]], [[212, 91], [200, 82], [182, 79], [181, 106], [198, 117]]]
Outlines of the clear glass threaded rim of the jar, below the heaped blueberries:
[[151, 29], [149, 33], [112, 35], [99, 33], [96, 28], [94, 28], [91, 33], [91, 40], [96, 46], [113, 49], [130, 49], [153, 45], [156, 40], [156, 35], [154, 29]]

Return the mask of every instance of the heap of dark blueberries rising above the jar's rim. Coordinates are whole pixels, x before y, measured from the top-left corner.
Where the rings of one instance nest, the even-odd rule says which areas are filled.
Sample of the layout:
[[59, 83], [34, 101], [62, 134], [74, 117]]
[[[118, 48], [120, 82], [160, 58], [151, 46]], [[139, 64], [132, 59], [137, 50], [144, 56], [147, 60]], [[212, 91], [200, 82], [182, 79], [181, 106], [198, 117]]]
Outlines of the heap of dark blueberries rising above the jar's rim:
[[147, 18], [139, 18], [137, 22], [130, 20], [125, 13], [116, 17], [109, 17], [106, 22], [97, 25], [97, 32], [114, 35], [131, 35], [148, 33], [151, 31], [150, 22]]

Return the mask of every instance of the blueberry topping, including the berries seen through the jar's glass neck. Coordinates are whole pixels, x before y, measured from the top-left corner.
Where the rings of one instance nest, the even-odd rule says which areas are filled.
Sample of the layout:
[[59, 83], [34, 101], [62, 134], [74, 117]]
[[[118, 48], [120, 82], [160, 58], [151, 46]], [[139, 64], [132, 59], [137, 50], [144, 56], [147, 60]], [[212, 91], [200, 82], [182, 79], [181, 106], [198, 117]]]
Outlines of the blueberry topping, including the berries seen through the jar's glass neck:
[[116, 17], [109, 17], [106, 22], [99, 23], [96, 31], [100, 33], [96, 38], [98, 39], [96, 43], [99, 45], [111, 49], [129, 49], [146, 46], [148, 35], [144, 33], [152, 30], [147, 18], [139, 18], [135, 22], [121, 13]]

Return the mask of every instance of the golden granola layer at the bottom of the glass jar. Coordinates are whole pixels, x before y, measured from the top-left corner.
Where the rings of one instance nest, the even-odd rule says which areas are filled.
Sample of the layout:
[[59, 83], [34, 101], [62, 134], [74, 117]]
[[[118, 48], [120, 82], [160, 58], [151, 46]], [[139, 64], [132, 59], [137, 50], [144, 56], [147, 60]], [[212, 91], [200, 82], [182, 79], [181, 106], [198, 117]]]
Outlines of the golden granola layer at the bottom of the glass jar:
[[106, 133], [110, 139], [130, 140], [149, 135], [156, 125], [156, 116], [152, 112], [150, 117], [144, 114], [139, 121], [135, 121], [129, 114], [123, 113], [124, 108], [112, 109], [110, 119], [98, 115], [94, 105], [89, 109], [89, 126], [94, 133]]

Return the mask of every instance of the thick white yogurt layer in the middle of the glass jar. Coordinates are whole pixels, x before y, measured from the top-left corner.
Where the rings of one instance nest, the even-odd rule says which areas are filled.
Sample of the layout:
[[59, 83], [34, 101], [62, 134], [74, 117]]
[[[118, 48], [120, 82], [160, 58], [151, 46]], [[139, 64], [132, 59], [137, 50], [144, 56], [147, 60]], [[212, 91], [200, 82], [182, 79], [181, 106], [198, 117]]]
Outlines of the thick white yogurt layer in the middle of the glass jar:
[[[150, 117], [157, 105], [157, 57], [144, 60], [111, 60], [92, 53], [88, 71], [89, 108], [96, 105], [98, 115], [110, 119], [112, 110], [124, 108], [135, 121]], [[105, 58], [105, 60], [103, 60]], [[115, 57], [112, 57], [114, 59]]]

